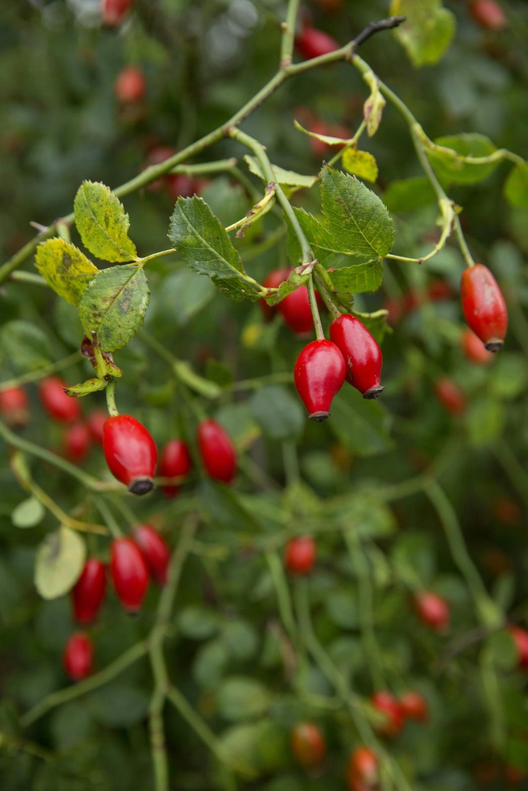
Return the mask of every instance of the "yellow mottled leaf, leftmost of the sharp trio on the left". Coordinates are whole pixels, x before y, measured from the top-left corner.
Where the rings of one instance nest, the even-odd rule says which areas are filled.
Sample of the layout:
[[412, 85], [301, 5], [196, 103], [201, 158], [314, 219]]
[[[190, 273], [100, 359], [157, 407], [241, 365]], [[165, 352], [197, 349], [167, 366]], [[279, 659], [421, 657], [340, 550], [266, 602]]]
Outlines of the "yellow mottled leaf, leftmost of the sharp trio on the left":
[[48, 286], [70, 305], [78, 305], [90, 280], [99, 271], [74, 244], [57, 237], [36, 248], [35, 266]]

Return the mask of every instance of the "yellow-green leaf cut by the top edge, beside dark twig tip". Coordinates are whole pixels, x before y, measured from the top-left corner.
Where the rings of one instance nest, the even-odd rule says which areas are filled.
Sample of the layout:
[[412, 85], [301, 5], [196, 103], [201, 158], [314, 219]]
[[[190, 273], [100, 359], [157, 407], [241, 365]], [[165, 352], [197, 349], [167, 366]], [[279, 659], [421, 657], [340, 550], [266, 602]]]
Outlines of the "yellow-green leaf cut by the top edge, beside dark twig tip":
[[454, 14], [441, 0], [393, 0], [391, 14], [407, 17], [396, 29], [413, 66], [431, 66], [439, 61], [454, 36]]

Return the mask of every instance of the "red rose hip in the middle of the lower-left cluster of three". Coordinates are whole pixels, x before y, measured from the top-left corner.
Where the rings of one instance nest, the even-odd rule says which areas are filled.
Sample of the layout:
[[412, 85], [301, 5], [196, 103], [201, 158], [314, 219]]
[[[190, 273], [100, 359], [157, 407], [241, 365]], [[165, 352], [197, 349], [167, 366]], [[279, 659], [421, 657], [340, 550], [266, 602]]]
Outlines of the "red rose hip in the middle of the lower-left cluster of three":
[[149, 570], [137, 544], [115, 539], [110, 551], [110, 574], [117, 598], [127, 612], [137, 612], [149, 587]]

